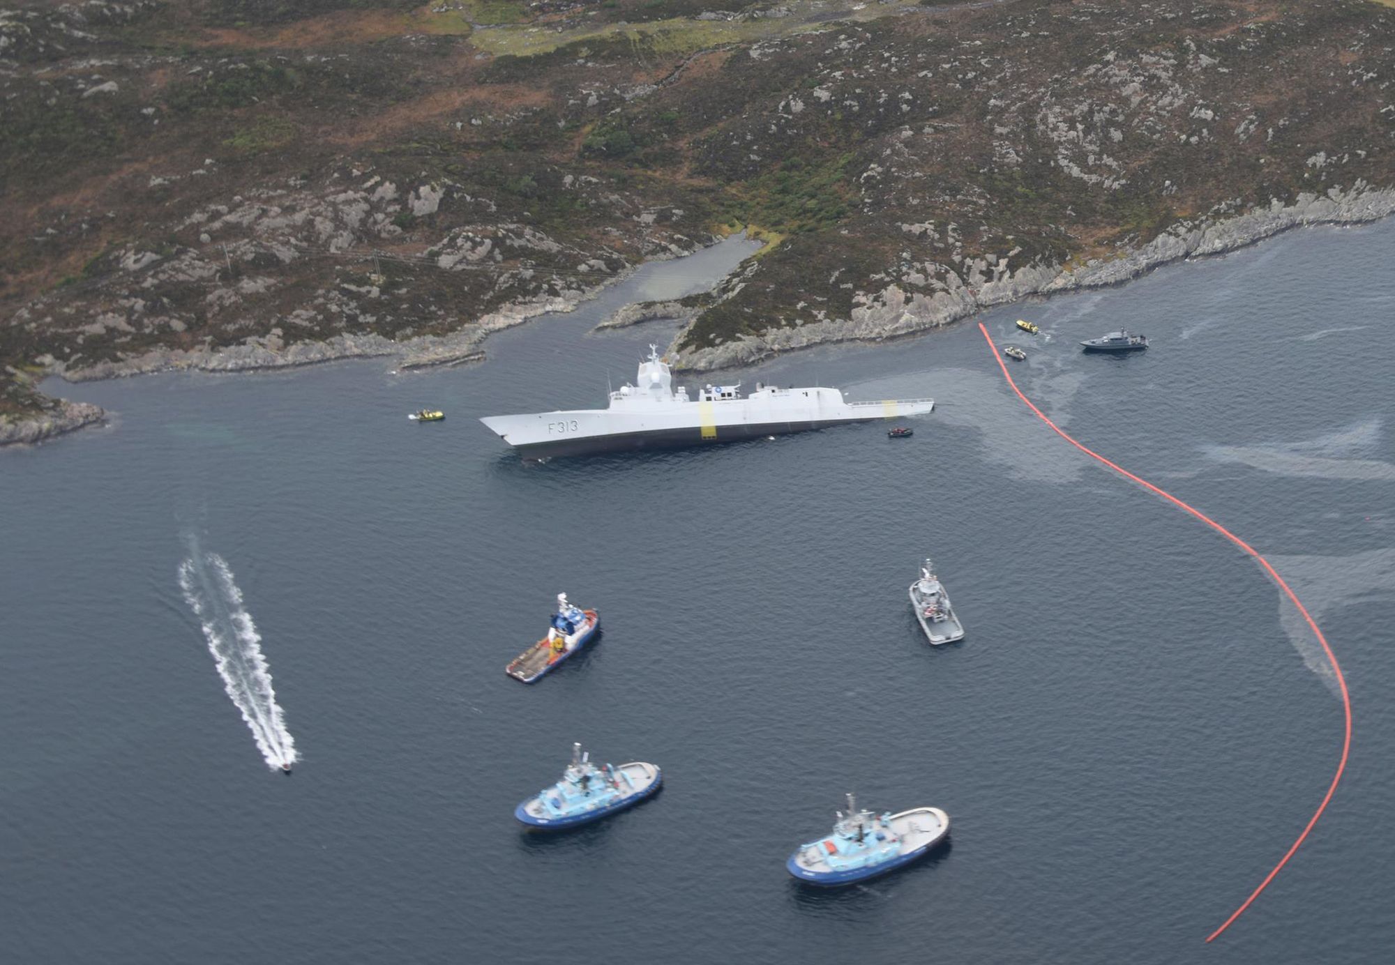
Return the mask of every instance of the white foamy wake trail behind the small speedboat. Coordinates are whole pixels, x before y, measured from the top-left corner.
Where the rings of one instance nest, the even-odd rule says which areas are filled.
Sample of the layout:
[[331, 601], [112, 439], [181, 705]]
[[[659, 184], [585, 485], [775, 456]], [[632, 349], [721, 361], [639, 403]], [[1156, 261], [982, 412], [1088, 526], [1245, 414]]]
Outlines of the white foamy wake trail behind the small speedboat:
[[180, 563], [179, 584], [184, 602], [204, 628], [223, 687], [243, 711], [266, 767], [294, 764], [296, 740], [286, 729], [286, 715], [276, 703], [271, 669], [261, 651], [261, 635], [243, 607], [243, 591], [233, 582], [227, 561], [191, 547], [190, 558]]

